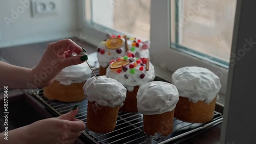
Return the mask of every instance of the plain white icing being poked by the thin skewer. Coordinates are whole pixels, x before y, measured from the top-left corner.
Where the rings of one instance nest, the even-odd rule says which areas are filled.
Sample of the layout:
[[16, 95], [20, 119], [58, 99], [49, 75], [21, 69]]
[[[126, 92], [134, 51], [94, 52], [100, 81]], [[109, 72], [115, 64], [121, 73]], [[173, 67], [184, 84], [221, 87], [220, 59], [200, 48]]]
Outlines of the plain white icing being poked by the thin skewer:
[[101, 106], [123, 106], [126, 98], [126, 88], [117, 80], [99, 76], [90, 78], [84, 84], [84, 95], [90, 102], [96, 102]]

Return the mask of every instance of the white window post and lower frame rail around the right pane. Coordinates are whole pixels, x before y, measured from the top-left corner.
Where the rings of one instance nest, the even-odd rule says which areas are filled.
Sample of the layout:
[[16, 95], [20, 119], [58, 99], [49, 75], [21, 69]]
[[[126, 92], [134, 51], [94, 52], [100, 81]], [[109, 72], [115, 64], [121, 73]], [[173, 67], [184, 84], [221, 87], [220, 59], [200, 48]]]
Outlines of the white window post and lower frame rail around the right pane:
[[[222, 88], [220, 93], [226, 94], [228, 68], [187, 54], [171, 45], [170, 1], [151, 1], [151, 61], [162, 73], [174, 73], [184, 66], [205, 67], [220, 77]], [[154, 35], [153, 35], [154, 34]], [[159, 39], [161, 38], [161, 39]], [[163, 74], [162, 74], [163, 75]], [[164, 79], [171, 81], [166, 74]], [[221, 102], [223, 103], [223, 102]]]

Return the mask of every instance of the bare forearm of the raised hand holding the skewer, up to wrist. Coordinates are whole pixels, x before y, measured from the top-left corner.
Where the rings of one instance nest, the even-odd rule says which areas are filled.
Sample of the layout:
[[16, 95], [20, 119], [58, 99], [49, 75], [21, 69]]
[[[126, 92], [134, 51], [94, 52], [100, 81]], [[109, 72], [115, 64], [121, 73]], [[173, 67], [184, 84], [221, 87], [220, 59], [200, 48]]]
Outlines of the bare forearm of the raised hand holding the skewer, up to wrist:
[[9, 88], [29, 89], [32, 83], [32, 70], [0, 61], [0, 86]]

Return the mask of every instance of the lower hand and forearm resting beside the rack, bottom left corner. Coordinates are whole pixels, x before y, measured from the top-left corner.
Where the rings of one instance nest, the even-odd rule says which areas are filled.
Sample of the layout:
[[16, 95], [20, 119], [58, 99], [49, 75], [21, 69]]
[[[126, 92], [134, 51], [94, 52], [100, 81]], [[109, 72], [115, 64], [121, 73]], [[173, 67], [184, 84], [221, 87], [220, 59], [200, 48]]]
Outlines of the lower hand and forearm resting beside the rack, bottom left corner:
[[[9, 143], [74, 143], [86, 128], [84, 122], [74, 119], [78, 109], [71, 110], [56, 118], [47, 118], [31, 125], [18, 128], [9, 132]], [[1, 134], [2, 135], [2, 134]], [[1, 137], [1, 136], [0, 136]], [[2, 137], [1, 137], [2, 138]], [[1, 140], [4, 140], [1, 139]], [[0, 143], [2, 143], [0, 140]]]

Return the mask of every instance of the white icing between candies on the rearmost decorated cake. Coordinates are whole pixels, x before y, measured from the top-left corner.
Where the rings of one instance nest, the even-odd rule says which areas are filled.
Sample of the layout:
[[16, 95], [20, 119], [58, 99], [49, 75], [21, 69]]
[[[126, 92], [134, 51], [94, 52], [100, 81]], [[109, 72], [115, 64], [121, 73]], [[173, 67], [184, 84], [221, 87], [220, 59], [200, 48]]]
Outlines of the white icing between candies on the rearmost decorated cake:
[[[105, 45], [106, 41], [101, 41], [100, 42], [98, 48], [104, 50], [104, 54], [101, 54], [99, 52], [97, 53], [98, 62], [100, 64], [100, 66], [107, 67], [112, 60], [116, 60], [118, 58], [121, 58], [121, 57], [125, 56], [125, 54], [126, 54], [126, 51], [125, 51], [125, 41], [124, 41], [124, 38], [121, 38], [121, 39], [123, 40], [123, 45], [119, 48], [119, 49], [121, 49], [121, 53], [120, 54], [118, 54], [116, 52], [116, 50], [108, 49], [106, 47], [106, 45]], [[143, 46], [142, 42], [138, 42], [139, 47], [132, 46], [132, 43], [133, 43], [132, 39], [127, 40], [127, 44], [128, 44], [128, 47], [129, 47], [130, 51], [132, 51], [132, 47], [135, 47], [135, 49], [133, 49], [134, 51], [132, 51], [132, 52], [136, 56], [138, 56], [139, 58], [149, 58], [150, 57], [150, 52], [148, 51], [148, 49], [146, 49], [146, 50], [142, 49], [142, 46]], [[148, 48], [149, 48], [150, 47], [150, 42], [148, 42], [147, 45], [148, 45]]]

